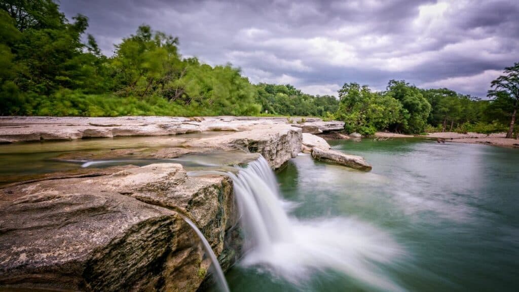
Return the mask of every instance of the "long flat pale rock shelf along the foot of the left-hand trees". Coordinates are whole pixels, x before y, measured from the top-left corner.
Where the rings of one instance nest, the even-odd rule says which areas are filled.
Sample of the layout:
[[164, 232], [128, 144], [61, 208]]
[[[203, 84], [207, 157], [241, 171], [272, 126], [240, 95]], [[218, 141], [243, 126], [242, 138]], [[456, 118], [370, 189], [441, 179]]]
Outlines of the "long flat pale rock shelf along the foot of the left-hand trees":
[[[276, 117], [0, 117], [0, 142], [165, 136], [206, 131], [244, 131], [272, 125], [290, 126], [286, 118]], [[312, 118], [293, 126], [329, 131], [342, 129], [344, 123]]]

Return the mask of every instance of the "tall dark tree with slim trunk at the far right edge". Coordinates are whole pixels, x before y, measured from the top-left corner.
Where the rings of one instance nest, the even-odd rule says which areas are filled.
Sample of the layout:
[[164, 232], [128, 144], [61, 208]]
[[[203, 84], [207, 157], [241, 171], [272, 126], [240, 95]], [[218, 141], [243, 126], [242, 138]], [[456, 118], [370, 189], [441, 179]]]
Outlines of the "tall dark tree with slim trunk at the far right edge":
[[503, 73], [495, 79], [488, 90], [488, 97], [494, 98], [511, 98], [513, 100], [512, 117], [510, 127], [507, 132], [507, 138], [512, 138], [514, 132], [515, 116], [517, 114], [517, 105], [519, 102], [519, 63], [504, 68]]

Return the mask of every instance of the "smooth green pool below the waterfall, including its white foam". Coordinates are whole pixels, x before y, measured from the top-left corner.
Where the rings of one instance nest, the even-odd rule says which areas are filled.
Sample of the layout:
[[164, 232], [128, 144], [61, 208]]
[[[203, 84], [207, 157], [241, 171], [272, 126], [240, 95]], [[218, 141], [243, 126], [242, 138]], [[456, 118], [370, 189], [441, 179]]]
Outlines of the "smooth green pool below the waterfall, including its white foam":
[[517, 150], [421, 139], [330, 144], [364, 156], [373, 171], [291, 160], [277, 174], [288, 236], [249, 247], [226, 274], [231, 291], [517, 290]]

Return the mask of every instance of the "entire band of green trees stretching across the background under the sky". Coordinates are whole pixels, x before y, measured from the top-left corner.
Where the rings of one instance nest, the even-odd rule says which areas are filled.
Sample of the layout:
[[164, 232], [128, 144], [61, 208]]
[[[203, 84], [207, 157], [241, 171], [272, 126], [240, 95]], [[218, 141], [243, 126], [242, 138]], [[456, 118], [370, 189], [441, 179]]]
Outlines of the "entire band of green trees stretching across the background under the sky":
[[[291, 85], [251, 84], [230, 64], [183, 58], [179, 40], [143, 25], [106, 57], [88, 18], [69, 22], [51, 0], [0, 1], [0, 115], [284, 115], [346, 122], [346, 130], [501, 131], [517, 103], [390, 81], [384, 92], [347, 83], [333, 96]], [[432, 125], [432, 126], [431, 126]]]

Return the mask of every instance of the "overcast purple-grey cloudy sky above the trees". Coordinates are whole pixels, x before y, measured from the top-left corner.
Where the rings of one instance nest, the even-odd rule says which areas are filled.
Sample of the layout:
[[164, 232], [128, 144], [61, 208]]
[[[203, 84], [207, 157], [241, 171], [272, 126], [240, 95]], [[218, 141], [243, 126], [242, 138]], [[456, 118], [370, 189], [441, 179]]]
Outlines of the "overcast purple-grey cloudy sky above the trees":
[[184, 57], [231, 62], [251, 82], [332, 94], [389, 79], [486, 96], [519, 61], [519, 1], [61, 0], [90, 19], [106, 55], [140, 24], [180, 38]]

